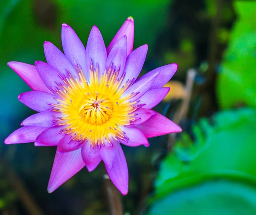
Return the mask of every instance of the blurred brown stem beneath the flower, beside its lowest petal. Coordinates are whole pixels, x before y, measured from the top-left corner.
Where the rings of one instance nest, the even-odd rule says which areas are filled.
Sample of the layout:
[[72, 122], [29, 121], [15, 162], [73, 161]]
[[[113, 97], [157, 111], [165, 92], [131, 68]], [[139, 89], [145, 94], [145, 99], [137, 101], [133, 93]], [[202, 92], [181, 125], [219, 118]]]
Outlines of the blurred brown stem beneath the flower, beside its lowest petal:
[[120, 192], [113, 185], [108, 174], [103, 175], [104, 185], [108, 196], [108, 204], [111, 215], [123, 215]]

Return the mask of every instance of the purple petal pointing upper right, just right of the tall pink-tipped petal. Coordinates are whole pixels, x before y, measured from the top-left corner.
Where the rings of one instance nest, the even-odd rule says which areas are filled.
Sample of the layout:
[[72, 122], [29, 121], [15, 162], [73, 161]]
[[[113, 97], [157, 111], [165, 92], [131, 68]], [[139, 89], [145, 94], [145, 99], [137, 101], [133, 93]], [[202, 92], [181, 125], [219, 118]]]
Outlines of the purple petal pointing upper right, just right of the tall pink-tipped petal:
[[145, 62], [147, 52], [148, 45], [143, 45], [129, 54], [125, 63], [125, 78], [122, 83], [125, 83], [125, 81], [128, 79], [131, 80], [132, 78], [134, 78], [134, 81], [136, 80]]

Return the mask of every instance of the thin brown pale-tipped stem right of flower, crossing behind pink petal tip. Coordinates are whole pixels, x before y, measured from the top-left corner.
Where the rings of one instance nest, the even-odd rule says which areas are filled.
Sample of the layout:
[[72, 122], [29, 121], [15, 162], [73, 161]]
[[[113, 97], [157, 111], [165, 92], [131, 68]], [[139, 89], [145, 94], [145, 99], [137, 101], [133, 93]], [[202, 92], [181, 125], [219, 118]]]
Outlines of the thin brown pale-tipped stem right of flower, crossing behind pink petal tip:
[[[196, 75], [195, 69], [188, 70], [187, 77], [186, 77], [186, 86], [185, 86], [186, 96], [182, 100], [182, 103], [180, 104], [180, 107], [178, 111], [175, 113], [173, 118], [173, 121], [176, 124], [179, 124], [180, 121], [185, 119], [187, 116], [187, 113], [189, 110], [189, 103], [192, 95], [192, 89], [193, 89], [194, 80], [195, 80], [195, 75]], [[176, 133], [169, 134], [168, 146], [167, 146], [167, 149], [169, 151], [172, 150], [172, 146], [173, 146], [173, 143], [175, 142], [175, 138], [176, 138]]]

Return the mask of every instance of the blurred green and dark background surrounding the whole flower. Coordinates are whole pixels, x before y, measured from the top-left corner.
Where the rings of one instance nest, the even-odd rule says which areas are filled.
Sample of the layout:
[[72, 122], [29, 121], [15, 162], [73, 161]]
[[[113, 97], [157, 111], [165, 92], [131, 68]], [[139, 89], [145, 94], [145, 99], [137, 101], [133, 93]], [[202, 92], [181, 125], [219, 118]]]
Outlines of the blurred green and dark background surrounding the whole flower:
[[[46, 40], [62, 50], [61, 23], [84, 44], [96, 25], [108, 45], [128, 16], [134, 49], [148, 44], [141, 75], [179, 65], [154, 109], [183, 132], [123, 147], [126, 196], [102, 163], [48, 194], [55, 147], [3, 143], [35, 113], [6, 63], [45, 61]], [[0, 0], [0, 215], [256, 215], [255, 20], [252, 0]]]

